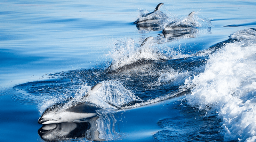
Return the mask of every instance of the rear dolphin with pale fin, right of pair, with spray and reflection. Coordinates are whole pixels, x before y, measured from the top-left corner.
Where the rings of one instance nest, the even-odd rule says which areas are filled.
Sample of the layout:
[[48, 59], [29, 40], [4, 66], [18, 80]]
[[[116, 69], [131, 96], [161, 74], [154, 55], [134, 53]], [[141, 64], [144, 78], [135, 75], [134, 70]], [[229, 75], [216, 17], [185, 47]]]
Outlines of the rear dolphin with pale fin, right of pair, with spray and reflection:
[[164, 37], [166, 38], [194, 38], [198, 33], [196, 22], [193, 18], [195, 12], [191, 12], [188, 16], [180, 21], [169, 23], [163, 30]]

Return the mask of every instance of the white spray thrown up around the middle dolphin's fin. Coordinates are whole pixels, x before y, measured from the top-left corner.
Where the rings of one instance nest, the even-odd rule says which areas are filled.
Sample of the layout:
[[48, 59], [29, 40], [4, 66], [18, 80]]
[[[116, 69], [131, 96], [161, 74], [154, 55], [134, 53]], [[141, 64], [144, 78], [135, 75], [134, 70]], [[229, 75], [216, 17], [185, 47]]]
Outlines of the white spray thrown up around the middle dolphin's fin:
[[145, 44], [136, 44], [133, 39], [117, 41], [112, 51], [106, 54], [111, 56], [111, 70], [116, 70], [125, 65], [133, 64], [138, 61], [159, 61], [178, 58], [186, 58], [180, 51], [175, 51], [172, 47], [155, 43], [156, 39], [151, 38]]

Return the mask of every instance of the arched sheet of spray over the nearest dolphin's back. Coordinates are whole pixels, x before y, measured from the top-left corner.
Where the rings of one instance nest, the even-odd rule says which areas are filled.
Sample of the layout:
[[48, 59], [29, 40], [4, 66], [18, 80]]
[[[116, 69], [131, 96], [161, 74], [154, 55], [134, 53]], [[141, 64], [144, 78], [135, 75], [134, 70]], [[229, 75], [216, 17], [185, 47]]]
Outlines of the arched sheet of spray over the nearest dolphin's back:
[[81, 102], [89, 102], [102, 109], [118, 109], [132, 101], [140, 101], [139, 97], [136, 97], [118, 81], [108, 80], [101, 83], [102, 86], [97, 92], [92, 92], [91, 86], [85, 84], [73, 97], [70, 94], [64, 94], [45, 99], [38, 106], [39, 113], [42, 114], [45, 109], [49, 108], [54, 109], [55, 112], [61, 112]]

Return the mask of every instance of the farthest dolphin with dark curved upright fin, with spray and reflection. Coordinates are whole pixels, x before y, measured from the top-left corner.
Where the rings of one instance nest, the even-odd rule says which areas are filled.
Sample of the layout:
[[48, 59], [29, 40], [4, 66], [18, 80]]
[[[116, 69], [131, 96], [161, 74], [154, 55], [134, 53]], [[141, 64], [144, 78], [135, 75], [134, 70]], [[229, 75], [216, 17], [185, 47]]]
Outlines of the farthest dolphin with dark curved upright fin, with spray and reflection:
[[157, 31], [163, 29], [164, 20], [169, 19], [167, 15], [165, 15], [162, 11], [160, 11], [160, 7], [163, 3], [160, 3], [156, 6], [153, 12], [147, 13], [145, 15], [141, 15], [133, 24], [136, 24], [136, 27], [139, 30], [147, 30], [147, 31]]

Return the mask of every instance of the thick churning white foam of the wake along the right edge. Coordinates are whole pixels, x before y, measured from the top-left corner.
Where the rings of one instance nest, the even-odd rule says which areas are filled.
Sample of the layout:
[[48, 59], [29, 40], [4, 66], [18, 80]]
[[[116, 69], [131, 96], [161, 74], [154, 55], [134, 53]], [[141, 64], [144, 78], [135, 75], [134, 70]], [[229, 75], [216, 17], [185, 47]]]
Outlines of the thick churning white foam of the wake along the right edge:
[[186, 97], [190, 105], [219, 113], [225, 141], [256, 140], [256, 42], [243, 35], [245, 41], [226, 44], [209, 56], [204, 73], [185, 81], [196, 85]]

